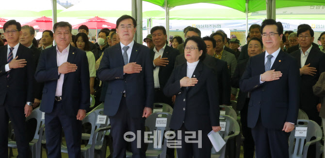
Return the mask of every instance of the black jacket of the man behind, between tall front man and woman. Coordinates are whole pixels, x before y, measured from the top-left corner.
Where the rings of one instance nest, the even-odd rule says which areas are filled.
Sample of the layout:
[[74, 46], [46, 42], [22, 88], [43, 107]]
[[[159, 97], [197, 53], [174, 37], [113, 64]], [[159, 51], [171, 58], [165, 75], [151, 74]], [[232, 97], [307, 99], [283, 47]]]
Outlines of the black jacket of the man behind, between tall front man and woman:
[[[150, 49], [150, 53], [151, 53], [151, 59], [152, 61], [154, 60], [155, 57], [155, 52], [153, 51], [153, 49]], [[159, 85], [160, 88], [164, 88], [169, 76], [172, 74], [172, 71], [174, 70], [174, 66], [175, 66], [175, 60], [177, 55], [179, 55], [179, 50], [173, 48], [173, 47], [169, 47], [168, 45], [166, 45], [165, 49], [163, 50], [162, 53], [162, 58], [168, 58], [168, 65], [166, 65], [165, 67], [160, 67], [159, 68]], [[157, 69], [157, 67], [153, 67], [153, 69]]]

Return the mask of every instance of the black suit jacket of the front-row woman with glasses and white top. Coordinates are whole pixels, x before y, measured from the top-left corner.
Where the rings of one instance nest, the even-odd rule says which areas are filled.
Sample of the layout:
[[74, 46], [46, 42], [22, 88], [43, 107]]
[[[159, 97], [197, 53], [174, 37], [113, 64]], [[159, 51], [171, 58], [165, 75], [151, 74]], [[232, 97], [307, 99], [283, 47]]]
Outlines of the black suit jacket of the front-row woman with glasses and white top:
[[219, 100], [217, 77], [212, 70], [198, 62], [192, 78], [198, 82], [194, 87], [180, 88], [179, 81], [186, 77], [187, 63], [175, 68], [163, 93], [167, 97], [176, 95], [170, 128], [179, 130], [183, 122], [190, 131], [211, 130], [211, 126], [219, 126]]

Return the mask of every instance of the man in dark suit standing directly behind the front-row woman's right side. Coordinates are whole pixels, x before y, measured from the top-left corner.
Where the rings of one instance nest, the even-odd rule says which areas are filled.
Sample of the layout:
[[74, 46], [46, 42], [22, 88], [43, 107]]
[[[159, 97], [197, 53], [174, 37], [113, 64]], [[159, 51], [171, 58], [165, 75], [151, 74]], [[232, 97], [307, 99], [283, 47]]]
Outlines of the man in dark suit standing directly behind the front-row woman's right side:
[[[210, 67], [217, 74], [219, 88], [219, 103], [221, 105], [230, 105], [230, 75], [227, 68], [227, 62], [214, 58], [216, 41], [212, 37], [205, 36], [202, 38], [207, 45], [207, 55], [203, 59], [203, 63]], [[185, 60], [185, 57], [183, 55]], [[185, 60], [186, 62], [186, 60]]]

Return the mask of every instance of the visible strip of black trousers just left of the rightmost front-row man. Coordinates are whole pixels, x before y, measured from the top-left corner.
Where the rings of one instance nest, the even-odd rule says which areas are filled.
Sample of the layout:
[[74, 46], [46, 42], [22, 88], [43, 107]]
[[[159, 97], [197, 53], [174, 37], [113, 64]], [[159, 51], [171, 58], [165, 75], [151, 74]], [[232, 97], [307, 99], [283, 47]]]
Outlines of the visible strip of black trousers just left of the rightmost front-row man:
[[245, 100], [243, 109], [241, 110], [242, 133], [244, 136], [244, 158], [254, 158], [255, 144], [252, 136], [252, 129], [247, 126], [249, 98]]

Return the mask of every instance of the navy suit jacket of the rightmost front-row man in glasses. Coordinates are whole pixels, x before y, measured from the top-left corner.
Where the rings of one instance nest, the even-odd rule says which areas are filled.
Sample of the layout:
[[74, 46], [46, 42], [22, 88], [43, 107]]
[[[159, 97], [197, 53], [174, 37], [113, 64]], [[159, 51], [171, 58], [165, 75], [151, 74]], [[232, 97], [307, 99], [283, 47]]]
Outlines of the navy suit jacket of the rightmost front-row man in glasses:
[[250, 57], [240, 81], [243, 92], [251, 92], [247, 125], [254, 128], [260, 115], [265, 128], [281, 129], [285, 122], [296, 123], [299, 109], [300, 75], [297, 60], [280, 50], [271, 70], [281, 71], [275, 81], [260, 84], [265, 72], [265, 52]]

